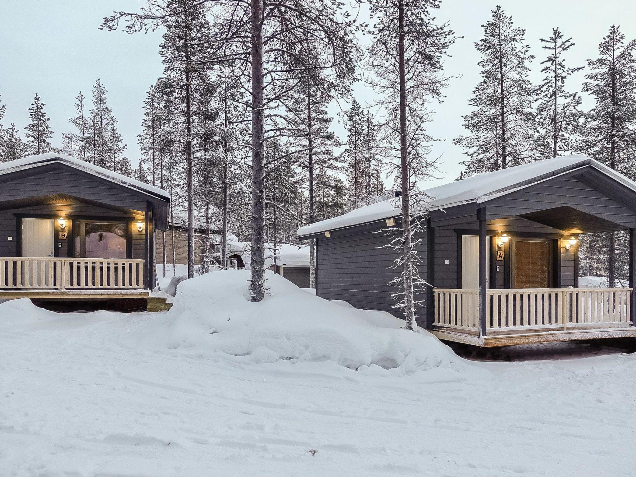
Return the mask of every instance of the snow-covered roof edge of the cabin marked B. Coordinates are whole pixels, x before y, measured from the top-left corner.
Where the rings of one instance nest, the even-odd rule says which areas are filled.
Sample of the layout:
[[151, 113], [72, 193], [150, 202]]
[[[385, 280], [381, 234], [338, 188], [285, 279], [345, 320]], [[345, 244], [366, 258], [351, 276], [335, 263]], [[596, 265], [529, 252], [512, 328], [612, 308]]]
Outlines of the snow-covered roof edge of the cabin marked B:
[[55, 162], [74, 167], [75, 169], [83, 170], [88, 174], [101, 177], [102, 179], [107, 179], [108, 181], [121, 184], [128, 188], [144, 191], [156, 197], [161, 197], [168, 200], [170, 199], [170, 194], [167, 193], [165, 190], [162, 190], [155, 186], [151, 186], [141, 181], [137, 181], [136, 179], [132, 179], [132, 177], [124, 176], [123, 174], [119, 174], [118, 172], [104, 169], [104, 167], [99, 167], [99, 165], [94, 165], [89, 162], [67, 156], [66, 154], [39, 154], [36, 156], [28, 156], [22, 159], [5, 162], [0, 164], [0, 176], [3, 174], [9, 174], [10, 172], [31, 169], [33, 167], [38, 167], [44, 164]]

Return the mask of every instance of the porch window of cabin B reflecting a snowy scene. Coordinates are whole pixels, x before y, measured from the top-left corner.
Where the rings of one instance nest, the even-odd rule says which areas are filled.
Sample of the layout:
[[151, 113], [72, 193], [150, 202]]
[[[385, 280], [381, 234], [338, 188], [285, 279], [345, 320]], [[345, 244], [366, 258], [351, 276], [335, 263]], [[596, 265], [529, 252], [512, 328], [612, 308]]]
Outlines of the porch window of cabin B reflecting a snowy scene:
[[127, 224], [79, 221], [76, 226], [76, 257], [126, 258]]

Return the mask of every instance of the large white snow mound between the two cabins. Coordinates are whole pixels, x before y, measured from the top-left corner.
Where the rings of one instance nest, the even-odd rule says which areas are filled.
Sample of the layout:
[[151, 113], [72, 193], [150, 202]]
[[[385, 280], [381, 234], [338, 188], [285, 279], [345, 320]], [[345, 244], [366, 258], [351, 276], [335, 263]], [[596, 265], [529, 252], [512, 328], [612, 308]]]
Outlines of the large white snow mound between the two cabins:
[[388, 313], [318, 298], [271, 272], [270, 293], [252, 303], [248, 279], [246, 270], [225, 270], [182, 282], [167, 321], [151, 339], [240, 363], [333, 361], [399, 375], [465, 364], [427, 331], [406, 331]]

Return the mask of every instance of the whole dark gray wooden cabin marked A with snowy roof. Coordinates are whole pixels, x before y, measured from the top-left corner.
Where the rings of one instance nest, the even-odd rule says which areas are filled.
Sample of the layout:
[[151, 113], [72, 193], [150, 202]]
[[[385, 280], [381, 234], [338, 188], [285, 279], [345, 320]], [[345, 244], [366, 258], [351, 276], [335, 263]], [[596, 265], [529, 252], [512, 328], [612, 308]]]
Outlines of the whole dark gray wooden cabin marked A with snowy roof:
[[[636, 183], [585, 156], [511, 167], [427, 191], [417, 245], [430, 285], [419, 326], [478, 346], [636, 336]], [[298, 230], [315, 239], [317, 295], [397, 316], [389, 281], [399, 199]], [[629, 230], [630, 287], [578, 287], [578, 234]]]

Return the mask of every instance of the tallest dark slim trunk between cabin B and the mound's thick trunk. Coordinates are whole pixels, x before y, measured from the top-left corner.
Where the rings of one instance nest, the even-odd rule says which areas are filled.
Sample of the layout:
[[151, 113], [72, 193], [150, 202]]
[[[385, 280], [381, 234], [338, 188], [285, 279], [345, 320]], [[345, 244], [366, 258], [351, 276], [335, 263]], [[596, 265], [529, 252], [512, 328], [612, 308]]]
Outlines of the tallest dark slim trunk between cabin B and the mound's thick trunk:
[[188, 13], [184, 14], [185, 22], [185, 75], [186, 75], [186, 183], [188, 195], [188, 278], [195, 276], [195, 209], [194, 209], [194, 181], [192, 177], [192, 109], [190, 92], [190, 39], [188, 36]]

